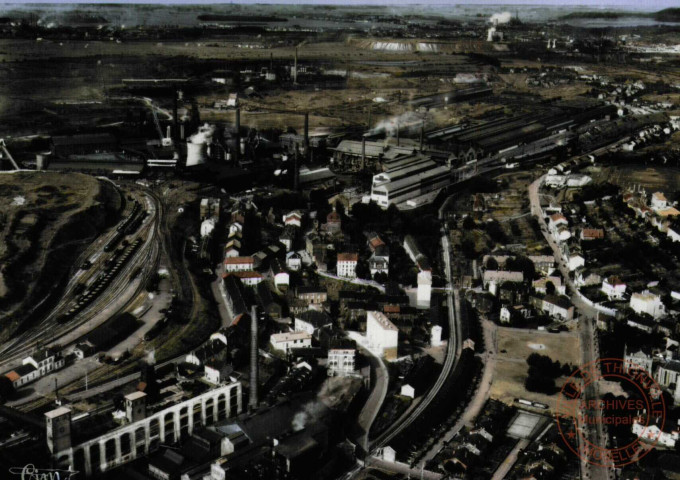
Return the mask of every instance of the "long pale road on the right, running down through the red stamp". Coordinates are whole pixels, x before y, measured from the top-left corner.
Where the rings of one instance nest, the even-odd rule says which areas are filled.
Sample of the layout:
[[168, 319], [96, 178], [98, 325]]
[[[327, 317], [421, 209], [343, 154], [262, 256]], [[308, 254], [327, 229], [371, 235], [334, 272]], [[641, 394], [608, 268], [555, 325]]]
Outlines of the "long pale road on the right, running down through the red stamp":
[[[581, 362], [583, 365], [585, 365], [595, 361], [598, 357], [597, 340], [592, 329], [593, 321], [595, 318], [597, 318], [597, 310], [583, 301], [578, 288], [576, 288], [574, 282], [569, 276], [570, 272], [567, 268], [566, 259], [562, 255], [562, 250], [552, 238], [552, 236], [548, 233], [548, 226], [545, 222], [545, 218], [543, 217], [543, 212], [539, 202], [539, 191], [544, 180], [545, 175], [541, 176], [531, 185], [529, 185], [529, 201], [531, 204], [531, 211], [538, 218], [539, 225], [543, 231], [543, 236], [550, 245], [550, 248], [553, 250], [555, 261], [560, 272], [562, 273], [562, 277], [565, 279], [567, 288], [571, 293], [571, 301], [581, 314], [581, 318], [579, 320]], [[584, 399], [587, 401], [589, 399], [597, 398], [600, 398], [599, 385], [598, 382], [595, 381], [591, 382], [585, 389]], [[606, 448], [607, 435], [604, 431], [603, 425], [600, 422], [597, 423], [597, 426], [594, 430], [588, 429], [587, 426], [583, 425], [581, 418], [577, 419], [577, 423], [579, 430], [585, 431], [586, 437], [592, 444], [597, 445], [602, 449]], [[581, 445], [581, 447], [583, 447], [583, 445]], [[582, 448], [581, 451], [583, 451]], [[582, 453], [581, 458], [583, 459], [584, 457], [585, 455]], [[612, 478], [612, 475], [613, 472], [609, 468], [592, 466], [584, 460], [581, 461], [581, 476], [583, 478], [590, 478], [593, 480], [607, 480]]]

